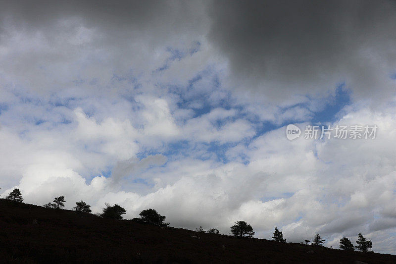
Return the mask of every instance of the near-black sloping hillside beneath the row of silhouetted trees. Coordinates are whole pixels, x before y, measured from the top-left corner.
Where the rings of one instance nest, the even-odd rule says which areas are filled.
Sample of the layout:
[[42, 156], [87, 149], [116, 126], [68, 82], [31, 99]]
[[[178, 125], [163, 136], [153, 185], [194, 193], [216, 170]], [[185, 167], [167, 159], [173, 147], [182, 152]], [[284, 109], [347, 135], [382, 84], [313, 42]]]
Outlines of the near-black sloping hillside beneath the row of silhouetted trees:
[[[36, 223], [37, 220], [37, 223]], [[192, 237], [199, 236], [200, 239]], [[314, 251], [314, 253], [307, 253]], [[0, 199], [0, 263], [396, 263], [396, 256], [238, 239]]]

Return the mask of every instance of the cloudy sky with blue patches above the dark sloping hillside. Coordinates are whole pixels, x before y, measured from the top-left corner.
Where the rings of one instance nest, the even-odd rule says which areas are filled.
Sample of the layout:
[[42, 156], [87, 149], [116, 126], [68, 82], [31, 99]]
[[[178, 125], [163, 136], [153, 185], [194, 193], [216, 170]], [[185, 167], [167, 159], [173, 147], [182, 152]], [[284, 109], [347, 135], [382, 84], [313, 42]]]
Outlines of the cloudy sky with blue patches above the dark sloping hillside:
[[396, 254], [395, 21], [391, 0], [0, 0], [0, 197]]

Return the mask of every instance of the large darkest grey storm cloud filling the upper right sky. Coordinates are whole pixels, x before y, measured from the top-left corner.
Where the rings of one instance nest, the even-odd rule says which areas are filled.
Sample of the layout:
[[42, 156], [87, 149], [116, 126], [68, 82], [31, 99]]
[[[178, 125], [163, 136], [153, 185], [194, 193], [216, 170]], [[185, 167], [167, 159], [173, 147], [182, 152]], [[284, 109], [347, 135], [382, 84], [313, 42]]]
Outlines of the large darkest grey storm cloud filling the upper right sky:
[[395, 94], [396, 1], [213, 1], [209, 39], [240, 89], [270, 98], [347, 81], [357, 96]]

